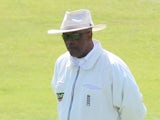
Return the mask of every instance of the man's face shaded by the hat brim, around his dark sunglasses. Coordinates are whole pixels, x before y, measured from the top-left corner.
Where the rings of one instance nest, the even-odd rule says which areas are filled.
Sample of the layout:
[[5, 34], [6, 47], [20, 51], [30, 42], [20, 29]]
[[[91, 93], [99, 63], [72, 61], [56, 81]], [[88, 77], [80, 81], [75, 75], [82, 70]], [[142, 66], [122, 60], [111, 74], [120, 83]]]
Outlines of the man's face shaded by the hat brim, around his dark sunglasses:
[[74, 33], [80, 33], [80, 38], [64, 40], [67, 50], [73, 57], [77, 58], [85, 57], [92, 50], [94, 46], [92, 41], [92, 29], [89, 28], [85, 30], [63, 33], [63, 34], [69, 36]]

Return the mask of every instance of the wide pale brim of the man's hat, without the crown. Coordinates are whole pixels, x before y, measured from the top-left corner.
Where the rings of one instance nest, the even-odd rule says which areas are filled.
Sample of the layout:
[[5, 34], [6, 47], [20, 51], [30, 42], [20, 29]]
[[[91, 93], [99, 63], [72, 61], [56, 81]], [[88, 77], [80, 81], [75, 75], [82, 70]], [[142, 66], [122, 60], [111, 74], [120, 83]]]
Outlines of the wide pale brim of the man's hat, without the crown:
[[79, 30], [84, 30], [92, 28], [93, 32], [100, 31], [106, 28], [105, 24], [99, 24], [99, 25], [94, 25], [94, 26], [89, 26], [89, 27], [82, 27], [82, 28], [76, 28], [76, 29], [70, 29], [70, 30], [56, 30], [56, 29], [51, 29], [48, 30], [48, 34], [60, 34], [60, 33], [67, 33], [67, 32], [74, 32], [74, 31], [79, 31]]

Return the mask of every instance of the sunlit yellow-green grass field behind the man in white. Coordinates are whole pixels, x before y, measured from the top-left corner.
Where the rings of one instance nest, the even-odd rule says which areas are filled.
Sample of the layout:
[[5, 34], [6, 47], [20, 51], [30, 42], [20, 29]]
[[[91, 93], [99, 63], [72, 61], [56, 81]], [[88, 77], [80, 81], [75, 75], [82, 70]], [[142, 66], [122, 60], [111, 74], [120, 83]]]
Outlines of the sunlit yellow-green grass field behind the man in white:
[[57, 120], [50, 85], [54, 62], [66, 51], [59, 28], [66, 10], [90, 9], [104, 48], [130, 67], [148, 109], [160, 119], [159, 0], [0, 0], [0, 119]]

